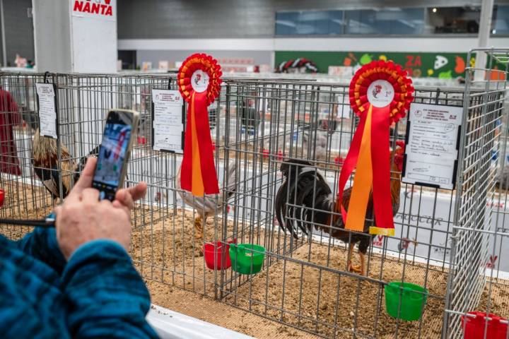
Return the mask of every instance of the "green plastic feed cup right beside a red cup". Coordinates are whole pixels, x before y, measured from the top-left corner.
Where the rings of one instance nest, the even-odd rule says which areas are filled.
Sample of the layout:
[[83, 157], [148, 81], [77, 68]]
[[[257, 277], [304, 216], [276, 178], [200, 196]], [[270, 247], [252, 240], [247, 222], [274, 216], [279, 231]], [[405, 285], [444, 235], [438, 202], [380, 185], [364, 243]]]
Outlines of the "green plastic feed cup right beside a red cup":
[[254, 244], [230, 244], [232, 269], [242, 274], [254, 274], [262, 270], [265, 258], [264, 246]]

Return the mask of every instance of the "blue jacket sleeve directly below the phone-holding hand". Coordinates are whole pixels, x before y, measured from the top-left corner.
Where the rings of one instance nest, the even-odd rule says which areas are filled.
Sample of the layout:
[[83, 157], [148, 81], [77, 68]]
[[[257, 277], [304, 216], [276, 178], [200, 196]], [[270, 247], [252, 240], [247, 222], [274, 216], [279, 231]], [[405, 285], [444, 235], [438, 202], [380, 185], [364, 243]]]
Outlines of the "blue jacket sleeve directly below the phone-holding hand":
[[158, 338], [145, 316], [150, 295], [127, 252], [110, 240], [77, 249], [62, 274], [73, 338]]

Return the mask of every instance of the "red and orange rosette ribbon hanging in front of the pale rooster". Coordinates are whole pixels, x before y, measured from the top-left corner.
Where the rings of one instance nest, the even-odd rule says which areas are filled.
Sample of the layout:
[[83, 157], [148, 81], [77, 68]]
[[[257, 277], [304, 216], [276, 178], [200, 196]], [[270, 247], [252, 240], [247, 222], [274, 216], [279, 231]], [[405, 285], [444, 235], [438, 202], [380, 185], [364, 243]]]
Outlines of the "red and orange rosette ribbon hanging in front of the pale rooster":
[[180, 93], [188, 103], [180, 186], [194, 196], [219, 193], [207, 107], [219, 96], [222, 75], [216, 59], [192, 54], [177, 76]]

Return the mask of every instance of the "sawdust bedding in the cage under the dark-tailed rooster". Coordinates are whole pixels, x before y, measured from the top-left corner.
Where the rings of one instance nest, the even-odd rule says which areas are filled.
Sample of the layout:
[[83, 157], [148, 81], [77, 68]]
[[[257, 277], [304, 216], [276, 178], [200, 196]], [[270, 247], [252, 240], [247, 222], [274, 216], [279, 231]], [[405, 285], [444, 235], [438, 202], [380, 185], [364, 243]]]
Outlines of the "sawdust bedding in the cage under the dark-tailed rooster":
[[[293, 258], [306, 260], [308, 253], [308, 246], [303, 246], [293, 254]], [[327, 253], [327, 246], [312, 244], [310, 261], [326, 266]], [[344, 269], [344, 249], [332, 249], [330, 258], [335, 262], [329, 263], [329, 266]], [[382, 273], [380, 265], [379, 257], [370, 258], [370, 278], [384, 281], [402, 279], [402, 263], [385, 261]], [[425, 268], [407, 265], [405, 269], [407, 282], [424, 285]], [[447, 273], [428, 271], [426, 287], [438, 297], [428, 298], [421, 324], [421, 338], [438, 338], [440, 335], [444, 308], [440, 297], [443, 297], [446, 284]], [[284, 301], [281, 299], [283, 286]], [[398, 338], [418, 338], [419, 321], [397, 323], [385, 313], [382, 289], [379, 283], [344, 275], [340, 278], [337, 273], [327, 270], [280, 261], [238, 287], [235, 290], [236, 299], [234, 295], [227, 299], [242, 308], [251, 305], [257, 313], [273, 319], [282, 318], [326, 338], [333, 338], [334, 335], [335, 338], [353, 338], [351, 331], [369, 337], [392, 338], [396, 328]], [[248, 296], [252, 299], [251, 303], [247, 300]], [[265, 307], [265, 304], [269, 307]]]

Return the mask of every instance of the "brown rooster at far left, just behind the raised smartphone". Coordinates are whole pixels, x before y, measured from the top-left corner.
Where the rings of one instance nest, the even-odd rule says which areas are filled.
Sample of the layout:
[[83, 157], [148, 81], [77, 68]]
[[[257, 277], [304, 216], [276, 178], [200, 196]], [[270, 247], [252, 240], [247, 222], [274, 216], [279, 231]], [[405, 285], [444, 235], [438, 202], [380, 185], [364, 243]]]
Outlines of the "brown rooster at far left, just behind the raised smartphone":
[[[53, 199], [64, 199], [71, 191], [73, 182], [77, 182], [83, 167], [86, 156], [81, 157], [78, 165], [75, 164], [69, 150], [60, 144], [60, 170], [58, 166], [57, 141], [53, 138], [41, 136], [39, 129], [34, 133], [32, 145], [32, 165], [35, 175], [46, 187]], [[88, 155], [97, 155], [99, 146], [94, 148]], [[59, 182], [62, 178], [62, 196], [60, 196]]]

